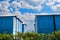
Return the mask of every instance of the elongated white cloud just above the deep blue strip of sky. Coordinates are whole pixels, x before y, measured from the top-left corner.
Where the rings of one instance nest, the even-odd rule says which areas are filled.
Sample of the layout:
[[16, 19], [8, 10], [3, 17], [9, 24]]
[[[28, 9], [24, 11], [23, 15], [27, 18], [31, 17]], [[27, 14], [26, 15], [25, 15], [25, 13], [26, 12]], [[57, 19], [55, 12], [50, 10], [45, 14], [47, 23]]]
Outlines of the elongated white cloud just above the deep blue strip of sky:
[[33, 9], [33, 10], [37, 10], [37, 11], [40, 11], [42, 9], [41, 5], [33, 6], [33, 5], [30, 5], [28, 2], [22, 2], [21, 7], [27, 8], [27, 9]]

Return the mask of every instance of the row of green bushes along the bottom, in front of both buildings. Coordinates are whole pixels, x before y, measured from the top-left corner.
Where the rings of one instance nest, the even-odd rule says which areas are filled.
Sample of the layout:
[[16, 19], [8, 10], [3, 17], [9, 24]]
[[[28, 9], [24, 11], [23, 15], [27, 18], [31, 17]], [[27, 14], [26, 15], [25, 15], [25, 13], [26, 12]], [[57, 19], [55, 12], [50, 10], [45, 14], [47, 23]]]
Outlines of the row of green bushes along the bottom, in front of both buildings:
[[4, 33], [0, 34], [0, 40], [60, 40], [60, 30], [56, 31], [55, 34], [38, 34], [34, 32], [22, 34], [18, 32], [17, 35], [13, 35]]

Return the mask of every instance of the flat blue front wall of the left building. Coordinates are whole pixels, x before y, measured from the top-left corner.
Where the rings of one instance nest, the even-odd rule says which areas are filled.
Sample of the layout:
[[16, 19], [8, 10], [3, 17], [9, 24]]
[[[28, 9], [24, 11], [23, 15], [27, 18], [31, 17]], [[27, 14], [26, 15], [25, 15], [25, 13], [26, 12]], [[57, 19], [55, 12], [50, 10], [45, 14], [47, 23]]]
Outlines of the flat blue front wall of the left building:
[[0, 33], [13, 33], [13, 17], [0, 17]]

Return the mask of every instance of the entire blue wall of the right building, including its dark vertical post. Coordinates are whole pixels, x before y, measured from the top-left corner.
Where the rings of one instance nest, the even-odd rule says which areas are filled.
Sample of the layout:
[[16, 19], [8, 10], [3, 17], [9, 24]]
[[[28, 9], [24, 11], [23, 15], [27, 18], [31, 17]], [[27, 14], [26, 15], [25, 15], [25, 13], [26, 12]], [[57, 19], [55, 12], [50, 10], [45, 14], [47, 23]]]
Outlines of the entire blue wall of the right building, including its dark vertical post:
[[60, 15], [37, 15], [35, 18], [38, 33], [52, 33], [60, 30]]

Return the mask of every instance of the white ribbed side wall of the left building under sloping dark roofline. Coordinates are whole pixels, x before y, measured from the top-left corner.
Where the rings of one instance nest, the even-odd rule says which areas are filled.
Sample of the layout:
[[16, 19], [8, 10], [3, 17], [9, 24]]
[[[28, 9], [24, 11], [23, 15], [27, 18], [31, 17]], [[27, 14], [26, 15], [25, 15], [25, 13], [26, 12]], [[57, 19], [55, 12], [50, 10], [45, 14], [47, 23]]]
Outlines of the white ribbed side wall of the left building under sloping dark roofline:
[[22, 32], [22, 23], [21, 23], [21, 21], [19, 21], [17, 18], [15, 18], [14, 17], [14, 19], [13, 19], [13, 34], [15, 35], [15, 34], [17, 34], [17, 32]]

